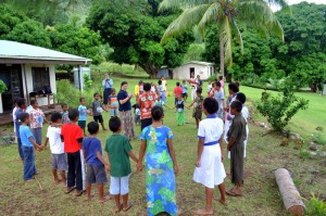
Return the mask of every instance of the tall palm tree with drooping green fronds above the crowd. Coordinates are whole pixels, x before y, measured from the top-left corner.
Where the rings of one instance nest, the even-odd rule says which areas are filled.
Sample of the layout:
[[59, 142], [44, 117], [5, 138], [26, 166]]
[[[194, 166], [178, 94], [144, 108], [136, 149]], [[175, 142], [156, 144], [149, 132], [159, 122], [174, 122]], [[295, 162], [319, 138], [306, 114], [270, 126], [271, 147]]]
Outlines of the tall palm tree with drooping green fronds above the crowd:
[[233, 38], [236, 38], [241, 52], [243, 41], [238, 24], [254, 27], [265, 37], [274, 35], [284, 41], [283, 28], [274, 15], [271, 4], [290, 12], [285, 0], [163, 0], [160, 11], [181, 8], [183, 13], [167, 27], [161, 42], [177, 36], [193, 26], [201, 33], [208, 25], [218, 25], [221, 74], [224, 76], [224, 63], [231, 65]]

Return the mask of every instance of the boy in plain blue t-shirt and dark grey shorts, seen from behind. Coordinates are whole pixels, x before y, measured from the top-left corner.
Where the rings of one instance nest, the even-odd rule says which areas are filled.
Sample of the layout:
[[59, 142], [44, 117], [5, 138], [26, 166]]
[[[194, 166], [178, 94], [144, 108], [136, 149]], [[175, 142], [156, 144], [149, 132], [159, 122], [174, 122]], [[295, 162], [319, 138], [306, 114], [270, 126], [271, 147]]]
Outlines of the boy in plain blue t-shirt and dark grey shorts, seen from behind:
[[99, 124], [90, 122], [87, 125], [89, 137], [83, 141], [84, 158], [87, 163], [86, 193], [87, 201], [91, 199], [91, 183], [97, 183], [100, 203], [108, 200], [104, 198], [104, 183], [106, 182], [105, 169], [109, 171], [109, 164], [103, 160], [101, 141], [97, 138]]

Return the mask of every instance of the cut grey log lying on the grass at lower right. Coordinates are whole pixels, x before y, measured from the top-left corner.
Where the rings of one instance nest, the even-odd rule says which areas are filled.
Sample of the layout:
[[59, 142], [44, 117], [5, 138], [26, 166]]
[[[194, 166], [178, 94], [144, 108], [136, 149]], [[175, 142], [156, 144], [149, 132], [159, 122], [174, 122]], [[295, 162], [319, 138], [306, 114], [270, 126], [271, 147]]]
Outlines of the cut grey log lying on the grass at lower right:
[[278, 168], [275, 171], [275, 178], [287, 212], [296, 216], [303, 215], [305, 207], [289, 171]]

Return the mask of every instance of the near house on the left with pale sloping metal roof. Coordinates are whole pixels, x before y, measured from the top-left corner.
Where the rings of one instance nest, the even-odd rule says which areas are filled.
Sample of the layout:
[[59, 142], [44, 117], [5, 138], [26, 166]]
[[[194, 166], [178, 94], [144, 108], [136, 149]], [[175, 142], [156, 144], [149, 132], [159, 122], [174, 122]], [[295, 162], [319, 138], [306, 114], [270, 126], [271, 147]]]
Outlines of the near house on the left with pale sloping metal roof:
[[[30, 92], [37, 92], [45, 86], [57, 92], [57, 64], [80, 65], [90, 64], [91, 60], [26, 43], [0, 40], [0, 79], [8, 91], [0, 94], [0, 113], [13, 107], [15, 97], [25, 98], [29, 103]], [[37, 96], [40, 106], [53, 103], [51, 96]]]

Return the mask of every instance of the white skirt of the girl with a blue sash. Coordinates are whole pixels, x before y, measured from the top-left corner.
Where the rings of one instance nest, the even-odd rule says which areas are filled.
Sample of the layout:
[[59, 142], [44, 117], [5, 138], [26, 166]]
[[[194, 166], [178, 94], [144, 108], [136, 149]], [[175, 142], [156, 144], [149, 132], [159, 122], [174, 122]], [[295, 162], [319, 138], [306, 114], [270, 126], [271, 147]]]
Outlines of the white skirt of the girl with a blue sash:
[[200, 167], [195, 168], [193, 181], [206, 188], [214, 188], [223, 183], [226, 173], [221, 156], [220, 144], [203, 148]]

